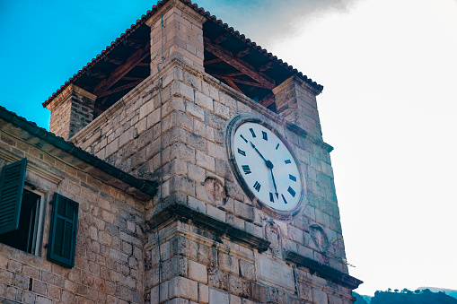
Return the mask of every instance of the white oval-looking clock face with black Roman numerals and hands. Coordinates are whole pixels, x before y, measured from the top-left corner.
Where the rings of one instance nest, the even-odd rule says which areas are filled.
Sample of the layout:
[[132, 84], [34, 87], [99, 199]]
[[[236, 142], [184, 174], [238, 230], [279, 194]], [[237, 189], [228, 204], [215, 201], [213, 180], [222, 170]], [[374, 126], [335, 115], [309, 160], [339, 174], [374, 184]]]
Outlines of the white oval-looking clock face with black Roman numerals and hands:
[[250, 192], [278, 211], [294, 209], [302, 195], [302, 180], [286, 145], [265, 126], [247, 122], [233, 138], [235, 166]]

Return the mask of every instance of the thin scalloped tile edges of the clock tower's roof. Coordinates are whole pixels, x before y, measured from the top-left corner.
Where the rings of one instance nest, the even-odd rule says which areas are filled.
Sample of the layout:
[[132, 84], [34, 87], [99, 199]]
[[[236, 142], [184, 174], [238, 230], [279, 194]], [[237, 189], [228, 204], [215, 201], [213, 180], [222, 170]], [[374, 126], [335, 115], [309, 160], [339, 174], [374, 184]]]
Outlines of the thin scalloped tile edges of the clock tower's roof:
[[[115, 48], [119, 43], [121, 43], [123, 40], [127, 39], [127, 37], [132, 34], [138, 27], [143, 25], [151, 16], [154, 15], [161, 7], [163, 7], [164, 4], [167, 4], [170, 0], [162, 0], [157, 2], [151, 10], [147, 11], [146, 14], [141, 16], [141, 19], [138, 19], [135, 24], [132, 24], [132, 26], [126, 30], [125, 33], [121, 34], [120, 37], [113, 42], [111, 42], [110, 46], [108, 46], [106, 49], [101, 51], [101, 54], [97, 55], [95, 58], [92, 59], [90, 63], [85, 65], [81, 70], [78, 71], [77, 74], [74, 74], [73, 77], [71, 77], [66, 83], [64, 83], [60, 89], [58, 89], [54, 94], [52, 94], [51, 97], [48, 98], [45, 102], [42, 103], [43, 107], [46, 107], [49, 102], [54, 100], [58, 94], [60, 94], [62, 91], [66, 89], [68, 85], [71, 83], [74, 83], [75, 80], [77, 80], [81, 75], [83, 75], [87, 70], [89, 70], [93, 65], [95, 65], [97, 62], [101, 61], [104, 56], [107, 56], [110, 51]], [[315, 83], [312, 81], [311, 78], [308, 78], [306, 75], [304, 75], [302, 72], [299, 72], [297, 69], [295, 69], [292, 65], [288, 65], [286, 62], [283, 60], [277, 58], [277, 56], [274, 56], [273, 54], [269, 53], [268, 50], [265, 48], [261, 48], [258, 44], [256, 44], [254, 41], [246, 38], [243, 34], [241, 34], [238, 30], [234, 30], [233, 27], [229, 27], [227, 23], [222, 22], [220, 19], [217, 19], [215, 15], [205, 11], [202, 7], [198, 7], [198, 4], [193, 4], [190, 0], [179, 0], [180, 2], [187, 4], [189, 7], [191, 7], [194, 11], [200, 13], [201, 15], [207, 17], [208, 20], [211, 22], [215, 22], [231, 34], [235, 36], [236, 38], [242, 40], [246, 44], [248, 44], [251, 48], [257, 49], [261, 54], [264, 56], [267, 56], [268, 59], [272, 60], [273, 62], [276, 62], [278, 65], [282, 65], [285, 67], [287, 70], [289, 70], [292, 74], [300, 77], [303, 79], [305, 83], [308, 83], [312, 86], [314, 90], [317, 92], [321, 92], [323, 90], [323, 86], [319, 83]]]

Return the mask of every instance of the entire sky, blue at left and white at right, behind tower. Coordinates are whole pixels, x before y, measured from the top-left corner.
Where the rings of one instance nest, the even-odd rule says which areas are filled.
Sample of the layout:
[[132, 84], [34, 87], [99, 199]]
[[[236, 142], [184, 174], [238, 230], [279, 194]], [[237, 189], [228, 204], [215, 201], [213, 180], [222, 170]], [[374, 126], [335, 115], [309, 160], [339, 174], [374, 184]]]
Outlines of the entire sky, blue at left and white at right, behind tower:
[[[201, 0], [321, 83], [318, 96], [356, 291], [457, 290], [457, 1]], [[154, 0], [0, 0], [0, 105], [41, 103]]]

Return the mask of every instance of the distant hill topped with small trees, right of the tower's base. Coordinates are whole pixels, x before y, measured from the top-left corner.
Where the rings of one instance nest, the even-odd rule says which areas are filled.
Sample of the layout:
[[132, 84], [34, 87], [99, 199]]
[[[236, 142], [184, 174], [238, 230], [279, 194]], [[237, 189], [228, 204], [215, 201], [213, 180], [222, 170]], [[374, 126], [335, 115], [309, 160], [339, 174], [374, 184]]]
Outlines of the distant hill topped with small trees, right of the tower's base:
[[[361, 302], [362, 303], [362, 302]], [[457, 304], [457, 299], [446, 295], [444, 292], [432, 292], [429, 289], [423, 291], [409, 291], [404, 289], [400, 292], [376, 291], [370, 304]], [[358, 303], [357, 303], [358, 304]]]

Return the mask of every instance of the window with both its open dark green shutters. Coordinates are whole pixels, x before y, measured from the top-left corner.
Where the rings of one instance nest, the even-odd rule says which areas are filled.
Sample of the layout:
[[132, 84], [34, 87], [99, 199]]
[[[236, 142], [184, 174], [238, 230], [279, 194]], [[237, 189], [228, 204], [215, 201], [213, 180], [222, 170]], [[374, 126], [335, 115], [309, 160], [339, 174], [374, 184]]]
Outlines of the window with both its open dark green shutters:
[[[24, 187], [27, 159], [6, 165], [0, 176], [0, 242], [40, 254], [44, 202], [40, 192]], [[75, 265], [79, 204], [54, 194], [48, 240], [48, 260], [66, 267]]]

